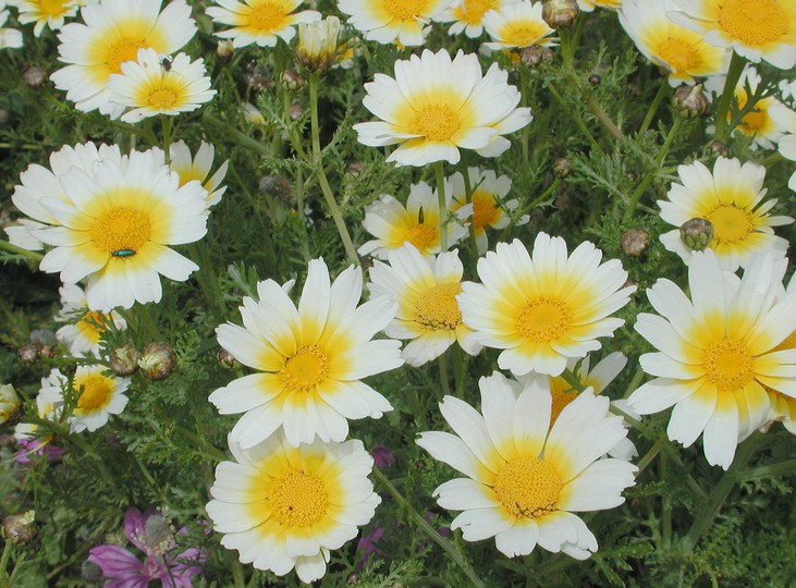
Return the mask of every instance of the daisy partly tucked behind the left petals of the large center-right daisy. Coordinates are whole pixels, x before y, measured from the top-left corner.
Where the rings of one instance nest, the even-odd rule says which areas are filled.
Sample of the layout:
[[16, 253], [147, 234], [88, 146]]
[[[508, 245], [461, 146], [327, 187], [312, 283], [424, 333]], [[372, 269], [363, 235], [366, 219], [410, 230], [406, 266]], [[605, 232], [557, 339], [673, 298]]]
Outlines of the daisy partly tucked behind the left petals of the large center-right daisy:
[[407, 243], [388, 252], [388, 259], [389, 266], [373, 264], [368, 290], [373, 296], [390, 296], [399, 303], [395, 319], [384, 333], [412, 340], [401, 357], [418, 367], [437, 359], [456, 342], [465, 352], [476, 355], [481, 346], [467, 340], [472, 331], [462, 322], [456, 302], [464, 272], [458, 252], [441, 253], [429, 259]]

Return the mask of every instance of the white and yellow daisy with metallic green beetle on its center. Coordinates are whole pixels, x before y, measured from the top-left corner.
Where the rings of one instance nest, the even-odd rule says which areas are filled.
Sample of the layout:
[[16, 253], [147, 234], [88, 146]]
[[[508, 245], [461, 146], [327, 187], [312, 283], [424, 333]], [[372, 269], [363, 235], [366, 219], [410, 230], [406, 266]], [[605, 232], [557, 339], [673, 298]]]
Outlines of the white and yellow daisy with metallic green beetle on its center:
[[[75, 167], [58, 182], [68, 200], [40, 200], [62, 225], [36, 231], [54, 246], [40, 268], [60, 272], [65, 283], [88, 278], [90, 310], [159, 302], [160, 273], [184, 281], [198, 269], [168, 246], [205, 235], [207, 193], [198, 182], [179, 187], [176, 173], [159, 166], [151, 151], [133, 151], [121, 163], [97, 161], [93, 173]], [[30, 187], [47, 193], [47, 185]]]

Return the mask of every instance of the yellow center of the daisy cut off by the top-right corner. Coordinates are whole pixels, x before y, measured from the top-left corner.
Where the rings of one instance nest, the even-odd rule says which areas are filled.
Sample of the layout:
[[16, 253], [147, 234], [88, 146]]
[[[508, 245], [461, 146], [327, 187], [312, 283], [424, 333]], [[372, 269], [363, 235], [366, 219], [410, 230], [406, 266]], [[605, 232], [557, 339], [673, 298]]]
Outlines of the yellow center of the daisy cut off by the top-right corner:
[[719, 26], [732, 39], [762, 47], [784, 40], [789, 30], [784, 0], [722, 0], [718, 2]]

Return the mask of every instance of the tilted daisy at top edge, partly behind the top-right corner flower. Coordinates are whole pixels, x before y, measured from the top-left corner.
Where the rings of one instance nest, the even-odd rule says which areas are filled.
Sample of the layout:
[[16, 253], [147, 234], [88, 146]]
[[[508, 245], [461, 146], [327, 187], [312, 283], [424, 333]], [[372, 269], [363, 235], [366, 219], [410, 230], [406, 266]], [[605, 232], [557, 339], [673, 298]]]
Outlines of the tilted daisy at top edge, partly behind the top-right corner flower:
[[676, 8], [674, 0], [626, 0], [620, 11], [620, 22], [638, 50], [669, 72], [671, 86], [694, 84], [694, 77], [725, 73], [730, 52], [672, 22], [668, 12]]

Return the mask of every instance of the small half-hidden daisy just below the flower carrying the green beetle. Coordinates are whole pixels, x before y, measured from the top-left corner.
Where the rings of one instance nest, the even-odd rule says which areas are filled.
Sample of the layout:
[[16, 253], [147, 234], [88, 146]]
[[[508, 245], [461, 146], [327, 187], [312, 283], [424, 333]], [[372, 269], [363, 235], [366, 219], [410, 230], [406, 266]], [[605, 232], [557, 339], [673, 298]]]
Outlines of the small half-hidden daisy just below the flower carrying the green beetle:
[[106, 315], [88, 309], [86, 293], [77, 284], [63, 284], [58, 293], [61, 295], [61, 310], [56, 316], [59, 322], [69, 322], [58, 331], [56, 336], [69, 347], [69, 352], [76, 356], [90, 354], [99, 357], [102, 333], [108, 324], [117, 330], [127, 328], [126, 321], [117, 311]]

